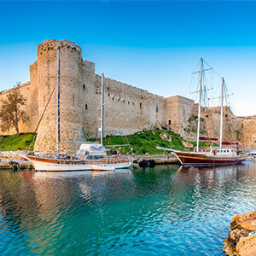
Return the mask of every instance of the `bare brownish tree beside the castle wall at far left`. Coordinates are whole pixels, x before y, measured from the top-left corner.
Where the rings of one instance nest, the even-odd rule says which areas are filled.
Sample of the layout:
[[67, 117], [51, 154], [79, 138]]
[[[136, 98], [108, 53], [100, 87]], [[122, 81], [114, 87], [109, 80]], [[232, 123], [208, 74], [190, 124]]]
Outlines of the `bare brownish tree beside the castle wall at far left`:
[[2, 102], [0, 109], [1, 129], [2, 131], [9, 131], [11, 127], [15, 127], [17, 136], [20, 137], [19, 123], [26, 122], [27, 115], [20, 107], [26, 103], [26, 98], [20, 94], [17, 85], [9, 91], [6, 99]]

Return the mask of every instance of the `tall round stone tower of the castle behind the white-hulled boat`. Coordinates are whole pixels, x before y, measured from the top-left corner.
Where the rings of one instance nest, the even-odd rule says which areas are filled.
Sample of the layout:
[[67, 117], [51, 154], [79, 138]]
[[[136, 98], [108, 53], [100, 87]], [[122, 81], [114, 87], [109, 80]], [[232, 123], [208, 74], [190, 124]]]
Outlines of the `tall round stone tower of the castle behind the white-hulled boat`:
[[[54, 39], [38, 45], [38, 115], [39, 118], [55, 91], [44, 113], [35, 143], [35, 150], [54, 152], [56, 148], [56, 85], [60, 48], [60, 113], [61, 142], [81, 140], [83, 126], [83, 60], [81, 48], [71, 41]], [[76, 149], [74, 144], [61, 144], [67, 151]]]

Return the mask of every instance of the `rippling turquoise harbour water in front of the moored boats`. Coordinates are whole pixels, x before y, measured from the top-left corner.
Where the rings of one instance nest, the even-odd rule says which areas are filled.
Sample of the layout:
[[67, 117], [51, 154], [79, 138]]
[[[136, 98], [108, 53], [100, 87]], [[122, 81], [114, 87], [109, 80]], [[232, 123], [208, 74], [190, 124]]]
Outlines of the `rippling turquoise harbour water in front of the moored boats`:
[[224, 255], [256, 165], [0, 172], [0, 255]]

